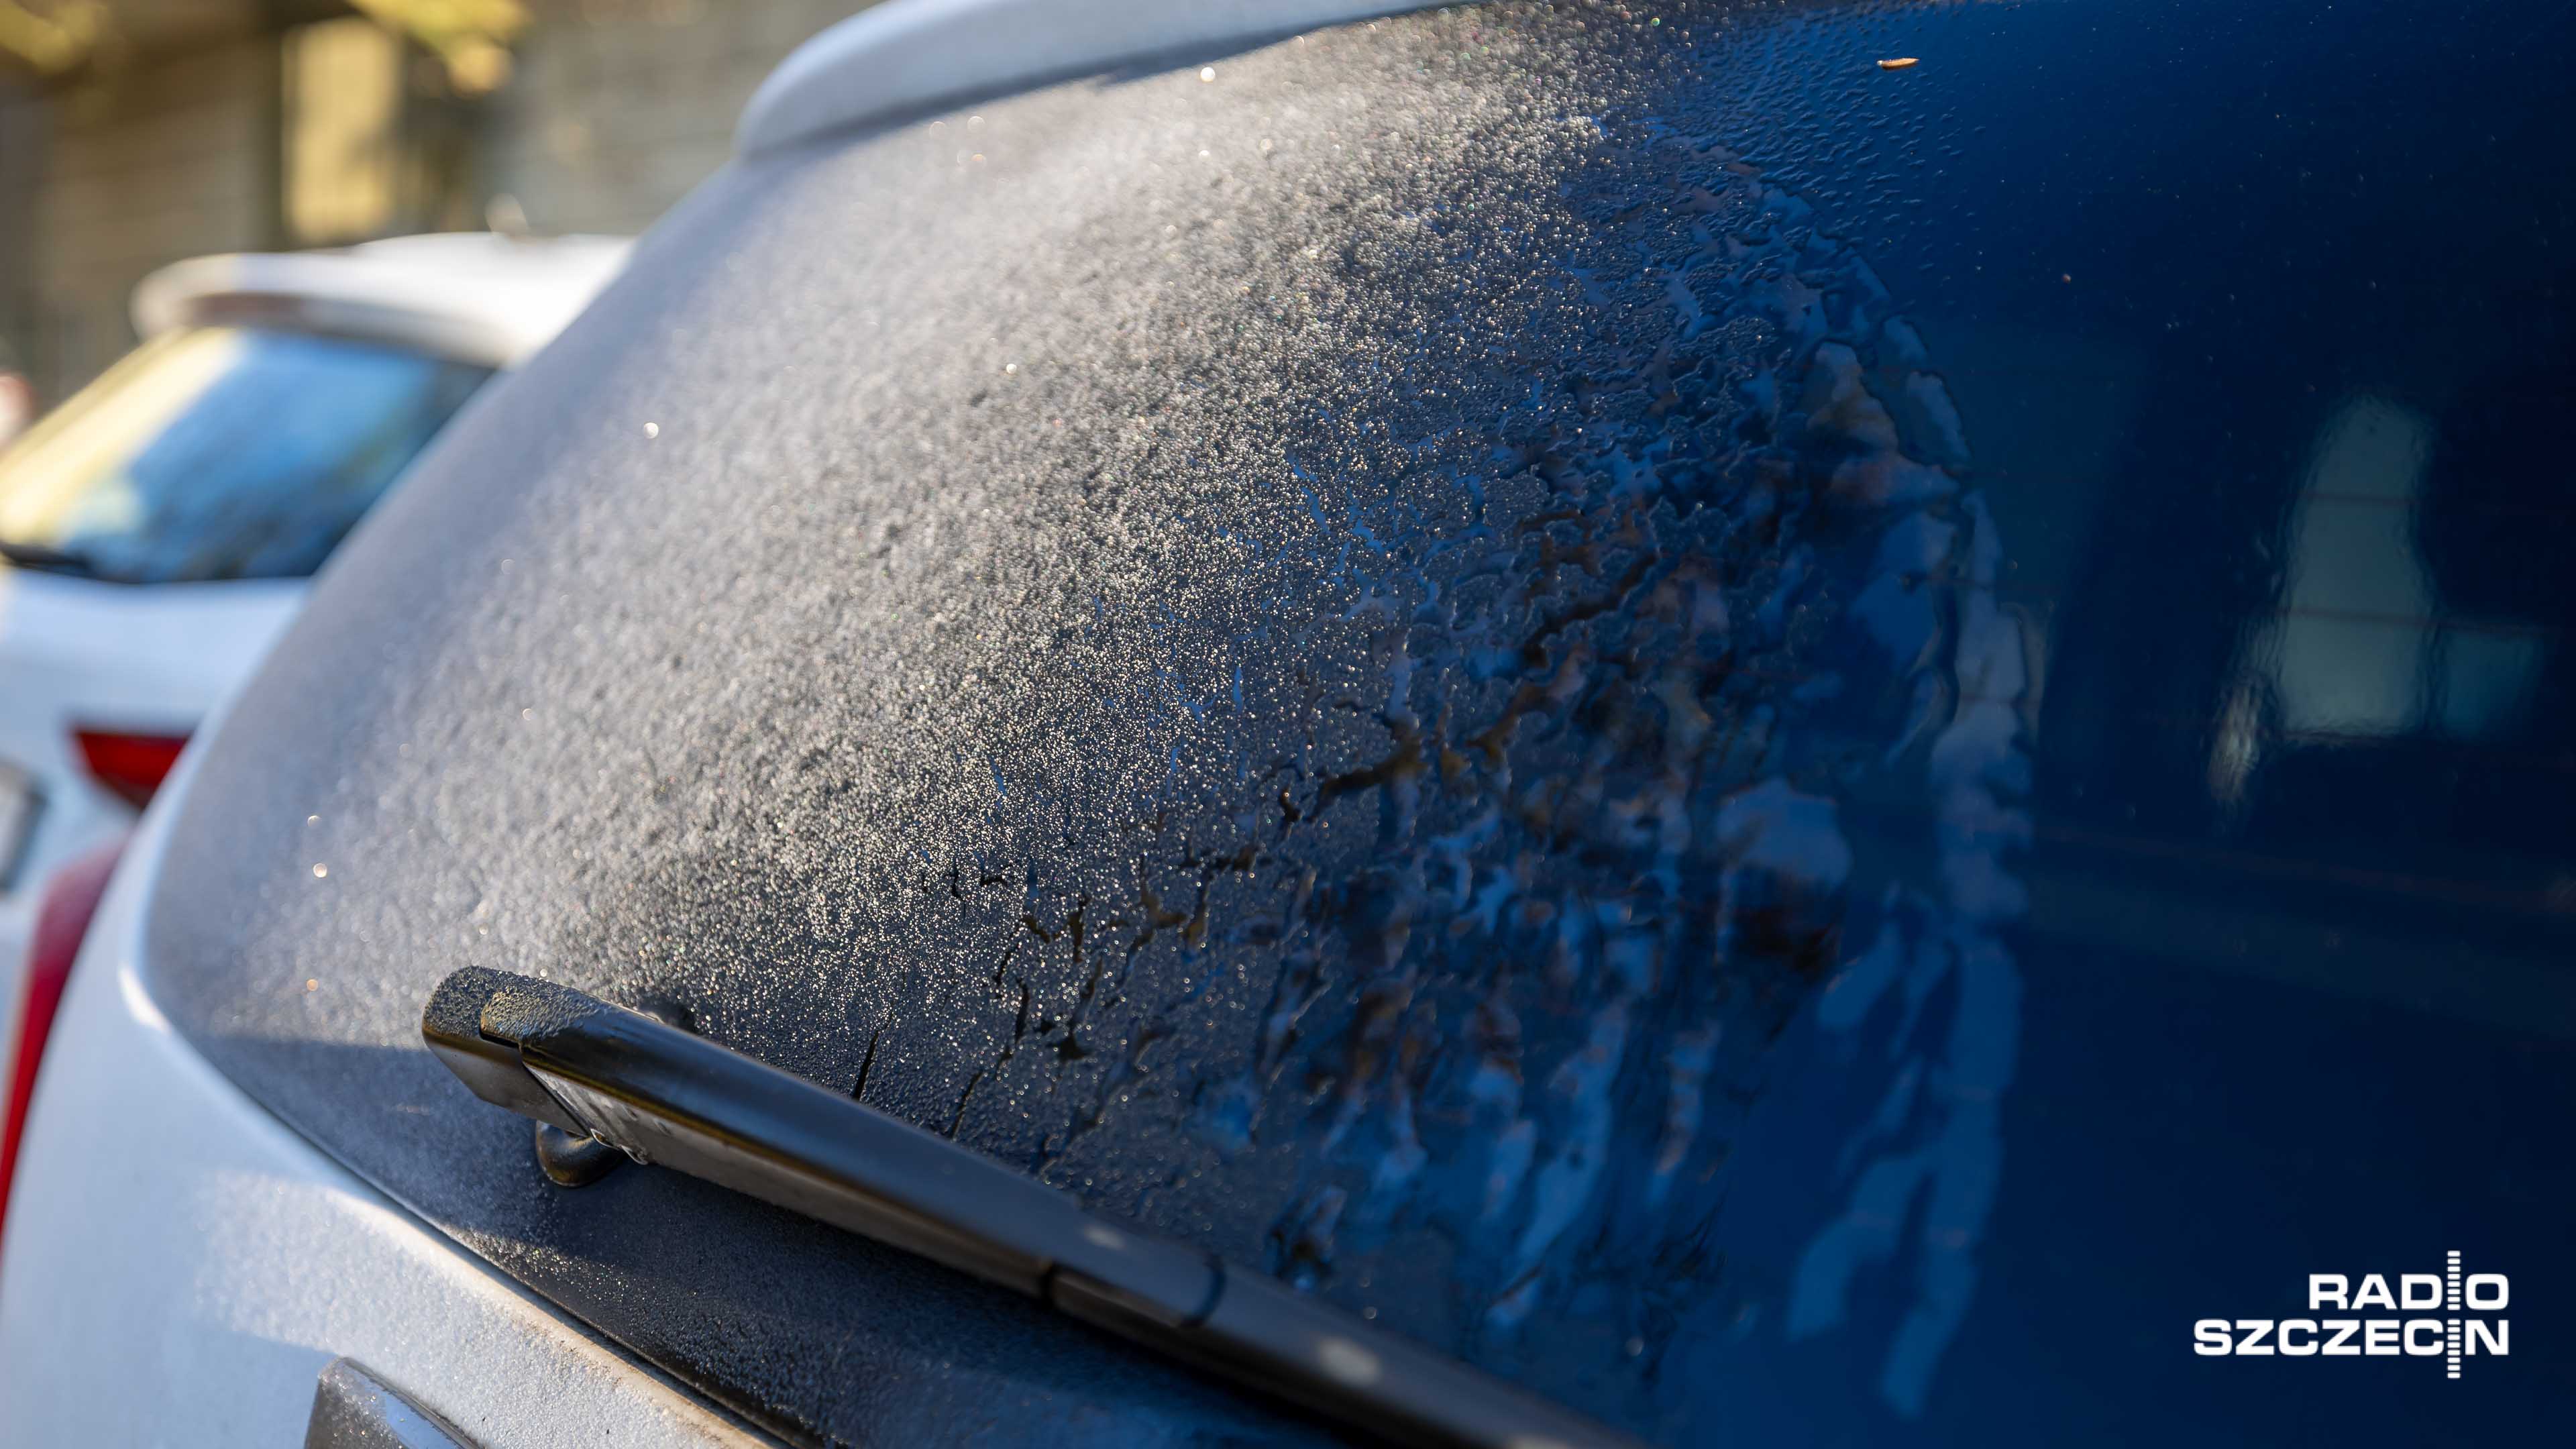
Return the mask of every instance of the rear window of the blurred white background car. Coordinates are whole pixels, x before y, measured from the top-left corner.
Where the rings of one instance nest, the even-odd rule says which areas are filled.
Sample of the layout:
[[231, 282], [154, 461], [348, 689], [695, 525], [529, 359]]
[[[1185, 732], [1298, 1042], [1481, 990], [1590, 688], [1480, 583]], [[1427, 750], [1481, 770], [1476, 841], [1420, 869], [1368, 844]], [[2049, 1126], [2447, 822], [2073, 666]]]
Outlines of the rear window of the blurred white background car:
[[0, 547], [118, 583], [312, 575], [484, 376], [340, 338], [155, 338], [0, 454]]

